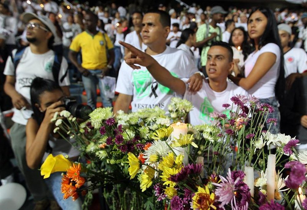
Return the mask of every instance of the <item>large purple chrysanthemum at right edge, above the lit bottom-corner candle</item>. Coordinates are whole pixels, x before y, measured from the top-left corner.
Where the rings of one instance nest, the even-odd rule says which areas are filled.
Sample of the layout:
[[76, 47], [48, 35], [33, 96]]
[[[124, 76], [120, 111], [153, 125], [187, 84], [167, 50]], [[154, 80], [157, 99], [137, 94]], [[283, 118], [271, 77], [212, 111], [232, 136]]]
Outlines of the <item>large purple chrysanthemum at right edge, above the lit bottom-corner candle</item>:
[[290, 161], [285, 164], [285, 168], [290, 168], [291, 170], [289, 177], [285, 180], [285, 184], [288, 188], [297, 189], [306, 180], [305, 165], [298, 161]]

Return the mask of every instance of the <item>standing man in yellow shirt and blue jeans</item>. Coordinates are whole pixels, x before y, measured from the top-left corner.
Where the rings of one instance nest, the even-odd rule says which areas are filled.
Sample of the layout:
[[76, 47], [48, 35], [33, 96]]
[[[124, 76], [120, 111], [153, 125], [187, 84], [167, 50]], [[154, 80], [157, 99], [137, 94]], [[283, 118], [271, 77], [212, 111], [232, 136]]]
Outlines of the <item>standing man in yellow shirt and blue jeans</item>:
[[[107, 75], [114, 62], [113, 43], [107, 34], [96, 30], [97, 15], [88, 12], [85, 17], [86, 30], [78, 34], [70, 45], [68, 57], [72, 64], [82, 73], [82, 81], [87, 95], [87, 105], [96, 108], [99, 85], [100, 96], [104, 107], [112, 106], [112, 99], [107, 98], [103, 92], [103, 83], [100, 78]], [[82, 50], [82, 64], [77, 61], [77, 53]], [[109, 59], [108, 56], [109, 55]]]

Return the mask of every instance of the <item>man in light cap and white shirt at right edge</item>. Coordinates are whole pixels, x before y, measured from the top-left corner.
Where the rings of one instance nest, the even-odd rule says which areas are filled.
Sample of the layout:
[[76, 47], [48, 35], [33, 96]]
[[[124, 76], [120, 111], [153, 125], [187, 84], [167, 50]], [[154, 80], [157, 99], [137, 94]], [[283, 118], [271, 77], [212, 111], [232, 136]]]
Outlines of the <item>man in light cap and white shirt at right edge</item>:
[[286, 88], [290, 89], [296, 78], [307, 75], [307, 54], [301, 48], [289, 46], [292, 34], [289, 25], [279, 24], [278, 33], [284, 53]]

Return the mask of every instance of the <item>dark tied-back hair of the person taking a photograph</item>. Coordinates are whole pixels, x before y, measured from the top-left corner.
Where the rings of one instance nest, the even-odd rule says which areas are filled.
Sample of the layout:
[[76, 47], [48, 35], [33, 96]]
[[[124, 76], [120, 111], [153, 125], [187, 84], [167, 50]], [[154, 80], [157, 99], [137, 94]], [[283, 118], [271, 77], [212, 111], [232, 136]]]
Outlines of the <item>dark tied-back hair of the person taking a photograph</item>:
[[30, 98], [31, 98], [31, 106], [33, 109], [33, 118], [37, 121], [38, 125], [41, 125], [45, 117], [45, 113], [42, 113], [35, 104], [40, 104], [40, 96], [45, 91], [52, 92], [53, 90], [61, 90], [61, 87], [52, 80], [43, 79], [41, 77], [36, 77], [33, 79], [30, 85]]

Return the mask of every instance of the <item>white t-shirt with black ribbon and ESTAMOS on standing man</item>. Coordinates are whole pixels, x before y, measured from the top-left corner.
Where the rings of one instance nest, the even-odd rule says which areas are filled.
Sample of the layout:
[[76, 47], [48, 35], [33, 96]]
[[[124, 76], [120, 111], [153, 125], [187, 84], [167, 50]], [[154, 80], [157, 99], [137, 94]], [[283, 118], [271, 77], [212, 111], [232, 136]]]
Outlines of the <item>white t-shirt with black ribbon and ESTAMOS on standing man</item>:
[[[197, 72], [192, 59], [182, 50], [166, 46], [163, 53], [152, 57], [175, 77], [188, 78]], [[176, 96], [169, 88], [157, 83], [146, 67], [133, 70], [126, 62], [120, 66], [115, 91], [133, 96], [132, 112], [155, 106], [167, 111], [170, 99]]]

